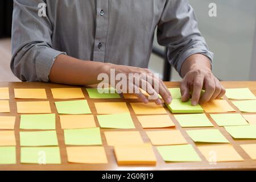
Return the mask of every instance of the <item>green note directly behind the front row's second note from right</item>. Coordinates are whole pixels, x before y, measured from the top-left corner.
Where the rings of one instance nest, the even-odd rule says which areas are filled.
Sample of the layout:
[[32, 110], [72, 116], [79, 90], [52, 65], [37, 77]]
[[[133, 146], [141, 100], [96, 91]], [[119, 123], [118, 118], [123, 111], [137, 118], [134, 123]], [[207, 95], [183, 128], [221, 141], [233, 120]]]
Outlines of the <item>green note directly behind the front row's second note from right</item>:
[[189, 137], [194, 142], [204, 143], [229, 143], [229, 141], [217, 129], [187, 130]]

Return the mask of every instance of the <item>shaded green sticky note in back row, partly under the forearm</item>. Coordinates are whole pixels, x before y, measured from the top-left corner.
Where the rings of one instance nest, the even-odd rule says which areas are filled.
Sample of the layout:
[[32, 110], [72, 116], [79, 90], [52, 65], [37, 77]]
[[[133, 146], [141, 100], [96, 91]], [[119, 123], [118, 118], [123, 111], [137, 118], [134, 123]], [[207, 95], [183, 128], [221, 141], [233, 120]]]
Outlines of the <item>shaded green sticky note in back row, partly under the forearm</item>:
[[114, 88], [86, 88], [90, 98], [121, 98]]

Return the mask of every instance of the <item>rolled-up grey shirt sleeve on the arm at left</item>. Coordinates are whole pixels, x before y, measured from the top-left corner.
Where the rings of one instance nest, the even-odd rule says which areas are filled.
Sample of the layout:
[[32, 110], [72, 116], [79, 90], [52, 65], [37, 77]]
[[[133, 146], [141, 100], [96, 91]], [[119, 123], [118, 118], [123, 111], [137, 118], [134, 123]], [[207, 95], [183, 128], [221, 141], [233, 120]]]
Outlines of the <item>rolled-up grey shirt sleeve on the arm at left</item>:
[[22, 81], [49, 81], [55, 58], [65, 52], [52, 48], [48, 16], [38, 15], [43, 0], [15, 0], [12, 30], [11, 71]]

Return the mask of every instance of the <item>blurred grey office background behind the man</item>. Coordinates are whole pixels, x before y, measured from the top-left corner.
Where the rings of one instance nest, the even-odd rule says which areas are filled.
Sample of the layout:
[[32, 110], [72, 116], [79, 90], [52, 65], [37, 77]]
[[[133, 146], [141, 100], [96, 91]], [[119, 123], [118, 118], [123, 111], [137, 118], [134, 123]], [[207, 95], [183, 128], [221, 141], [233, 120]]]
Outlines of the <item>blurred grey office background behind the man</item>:
[[[213, 72], [223, 81], [256, 80], [256, 1], [189, 0], [195, 9], [199, 28], [214, 52]], [[209, 3], [216, 3], [217, 17], [208, 15]], [[9, 65], [11, 0], [0, 1], [0, 81], [17, 81]], [[149, 68], [164, 80], [180, 81], [177, 72], [164, 59], [165, 48], [155, 36]]]

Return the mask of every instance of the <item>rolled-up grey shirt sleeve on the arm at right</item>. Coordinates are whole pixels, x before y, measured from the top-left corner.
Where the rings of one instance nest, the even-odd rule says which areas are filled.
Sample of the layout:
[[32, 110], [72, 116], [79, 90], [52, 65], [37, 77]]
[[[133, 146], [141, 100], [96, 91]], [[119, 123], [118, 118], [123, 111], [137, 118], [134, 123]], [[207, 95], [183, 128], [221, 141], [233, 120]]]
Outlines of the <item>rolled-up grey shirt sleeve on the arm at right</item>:
[[207, 56], [212, 64], [213, 53], [201, 36], [188, 0], [167, 0], [158, 23], [157, 35], [158, 43], [168, 47], [168, 60], [180, 76], [183, 62], [195, 53]]

